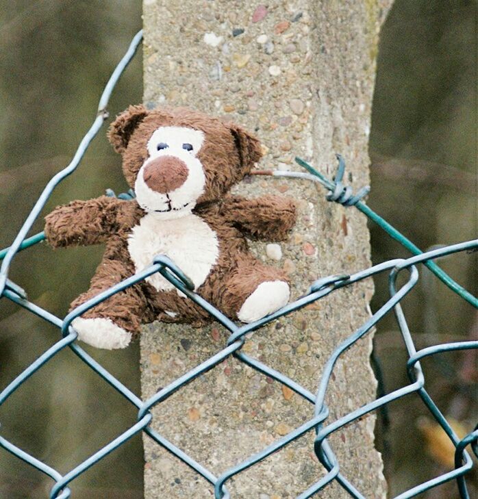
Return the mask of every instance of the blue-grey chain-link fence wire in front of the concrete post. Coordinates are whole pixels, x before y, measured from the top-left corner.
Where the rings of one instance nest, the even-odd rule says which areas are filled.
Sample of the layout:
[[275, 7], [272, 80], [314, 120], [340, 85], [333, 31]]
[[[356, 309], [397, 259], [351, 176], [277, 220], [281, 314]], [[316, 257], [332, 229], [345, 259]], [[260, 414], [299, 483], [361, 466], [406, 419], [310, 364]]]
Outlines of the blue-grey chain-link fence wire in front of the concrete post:
[[[401, 300], [404, 296], [412, 290], [414, 285], [416, 285], [418, 281], [418, 264], [423, 264], [433, 272], [433, 274], [438, 277], [441, 281], [443, 281], [453, 292], [461, 296], [464, 300], [466, 300], [470, 305], [475, 308], [478, 308], [478, 300], [470, 294], [468, 291], [464, 290], [462, 286], [455, 283], [453, 279], [451, 279], [443, 270], [441, 270], [435, 263], [434, 259], [438, 257], [443, 257], [444, 255], [451, 255], [452, 253], [458, 253], [462, 251], [476, 251], [478, 248], [478, 240], [473, 240], [469, 242], [462, 242], [460, 244], [454, 244], [452, 246], [446, 246], [442, 248], [435, 249], [433, 251], [428, 251], [427, 253], [422, 253], [419, 248], [414, 246], [412, 242], [407, 240], [401, 233], [399, 233], [396, 229], [394, 229], [388, 222], [383, 220], [380, 216], [378, 216], [375, 212], [373, 212], [365, 203], [361, 201], [361, 199], [368, 193], [368, 188], [362, 188], [356, 195], [353, 195], [353, 192], [350, 187], [344, 187], [342, 184], [342, 177], [344, 175], [344, 162], [341, 157], [339, 159], [339, 167], [336, 177], [334, 181], [330, 181], [323, 177], [317, 170], [315, 170], [310, 164], [307, 164], [303, 161], [303, 159], [297, 158], [297, 162], [308, 170], [308, 173], [300, 173], [300, 172], [282, 172], [282, 171], [257, 171], [256, 174], [262, 175], [276, 175], [276, 176], [286, 176], [286, 177], [299, 177], [301, 179], [307, 179], [322, 183], [324, 187], [329, 190], [329, 194], [327, 194], [327, 199], [329, 201], [335, 201], [341, 203], [347, 207], [355, 207], [359, 209], [362, 213], [364, 213], [370, 220], [373, 220], [379, 226], [385, 230], [392, 238], [399, 241], [405, 248], [407, 248], [414, 256], [408, 259], [393, 259], [390, 261], [385, 261], [382, 264], [375, 265], [373, 267], [367, 268], [360, 272], [356, 272], [355, 274], [346, 275], [333, 275], [329, 277], [325, 277], [323, 279], [318, 279], [307, 290], [307, 293], [294, 301], [286, 305], [286, 307], [280, 309], [275, 312], [271, 316], [267, 316], [257, 322], [253, 322], [252, 324], [247, 325], [237, 325], [231, 320], [229, 320], [224, 314], [221, 313], [218, 309], [214, 308], [210, 303], [206, 300], [203, 300], [201, 296], [194, 293], [194, 285], [190, 281], [190, 279], [181, 271], [180, 268], [175, 266], [174, 262], [171, 259], [168, 259], [166, 255], [159, 255], [156, 257], [153, 262], [151, 262], [151, 266], [146, 270], [134, 274], [133, 276], [125, 279], [121, 283], [110, 287], [110, 289], [105, 290], [101, 294], [95, 296], [88, 302], [83, 305], [77, 307], [71, 313], [69, 313], [64, 319], [58, 318], [53, 314], [49, 313], [47, 310], [39, 307], [38, 305], [32, 303], [28, 300], [27, 294], [25, 291], [18, 286], [16, 283], [10, 281], [8, 279], [8, 274], [10, 270], [10, 264], [12, 263], [12, 259], [15, 257], [18, 251], [22, 249], [29, 248], [34, 246], [38, 242], [45, 239], [44, 233], [39, 233], [31, 238], [26, 238], [28, 231], [31, 229], [34, 221], [38, 218], [42, 208], [45, 206], [45, 203], [49, 199], [51, 192], [53, 189], [62, 181], [65, 177], [70, 175], [75, 171], [81, 158], [83, 157], [88, 145], [92, 141], [92, 139], [96, 136], [99, 129], [108, 118], [108, 112], [106, 111], [106, 106], [108, 105], [108, 100], [118, 81], [121, 73], [125, 70], [127, 64], [134, 56], [138, 45], [142, 40], [142, 33], [139, 32], [131, 42], [129, 49], [121, 62], [118, 64], [108, 84], [103, 91], [101, 99], [99, 101], [98, 113], [97, 117], [90, 127], [88, 133], [84, 136], [83, 140], [79, 144], [77, 152], [73, 157], [71, 163], [64, 168], [64, 170], [58, 172], [51, 181], [47, 184], [45, 190], [43, 190], [40, 195], [38, 201], [34, 205], [34, 208], [30, 212], [27, 220], [21, 227], [18, 235], [16, 236], [12, 246], [6, 248], [5, 250], [0, 252], [0, 259], [3, 260], [1, 270], [0, 270], [0, 296], [1, 298], [7, 298], [12, 302], [16, 303], [20, 307], [23, 307], [27, 311], [39, 316], [43, 320], [50, 322], [51, 324], [58, 327], [61, 331], [61, 338], [56, 342], [51, 348], [49, 348], [45, 353], [40, 355], [38, 359], [36, 359], [28, 368], [26, 368], [20, 375], [14, 379], [10, 385], [5, 387], [3, 391], [0, 393], [0, 405], [8, 402], [8, 398], [10, 395], [18, 389], [23, 383], [27, 382], [30, 376], [36, 372], [36, 370], [40, 369], [45, 363], [49, 362], [55, 355], [60, 353], [64, 348], [70, 348], [73, 352], [83, 361], [89, 368], [94, 370], [98, 376], [104, 379], [107, 383], [110, 383], [112, 387], [114, 387], [121, 395], [125, 397], [127, 402], [131, 403], [138, 409], [138, 418], [137, 421], [132, 424], [127, 431], [118, 435], [116, 439], [110, 442], [108, 445], [103, 446], [99, 449], [94, 455], [88, 457], [82, 463], [79, 463], [75, 468], [67, 472], [66, 474], [60, 474], [57, 470], [49, 466], [47, 463], [43, 463], [36, 457], [29, 455], [25, 450], [18, 448], [14, 443], [8, 441], [7, 439], [1, 437], [0, 435], [0, 447], [10, 452], [12, 455], [17, 457], [18, 459], [22, 459], [29, 465], [36, 468], [40, 472], [46, 474], [51, 477], [53, 480], [53, 486], [51, 487], [50, 498], [51, 499], [66, 499], [71, 496], [71, 489], [68, 485], [75, 479], [77, 476], [83, 474], [90, 468], [95, 465], [100, 459], [108, 455], [110, 452], [113, 452], [119, 446], [122, 446], [127, 442], [128, 439], [144, 431], [151, 439], [158, 443], [158, 445], [162, 446], [168, 452], [175, 455], [178, 459], [186, 463], [193, 470], [195, 470], [199, 475], [203, 476], [205, 480], [209, 481], [214, 487], [214, 496], [216, 499], [227, 499], [230, 498], [230, 494], [227, 491], [227, 481], [233, 476], [240, 474], [247, 468], [259, 463], [263, 459], [266, 459], [269, 455], [277, 452], [293, 442], [295, 439], [301, 437], [308, 431], [314, 429], [316, 436], [314, 441], [311, 442], [311, 449], [314, 449], [314, 453], [316, 458], [323, 466], [323, 470], [325, 470], [325, 474], [321, 472], [320, 468], [318, 468], [318, 476], [320, 479], [309, 487], [307, 490], [303, 491], [298, 499], [306, 499], [314, 496], [318, 491], [322, 490], [327, 484], [331, 483], [331, 481], [336, 481], [340, 484], [340, 486], [345, 489], [353, 498], [364, 498], [361, 494], [360, 490], [358, 490], [354, 483], [353, 477], [346, 477], [340, 472], [340, 463], [337, 461], [336, 456], [334, 455], [334, 450], [331, 448], [329, 443], [327, 442], [327, 437], [332, 433], [340, 430], [343, 426], [347, 424], [351, 424], [364, 416], [366, 413], [370, 411], [375, 411], [388, 405], [393, 400], [397, 400], [398, 398], [402, 398], [404, 396], [410, 394], [416, 394], [423, 401], [425, 407], [429, 410], [429, 413], [433, 416], [433, 418], [438, 422], [438, 424], [443, 428], [446, 435], [448, 435], [450, 441], [455, 446], [455, 468], [441, 474], [440, 476], [436, 476], [425, 483], [420, 483], [420, 485], [416, 485], [412, 489], [409, 489], [399, 496], [397, 499], [405, 499], [417, 496], [423, 491], [427, 491], [428, 489], [432, 489], [433, 487], [437, 487], [447, 481], [451, 481], [455, 479], [457, 481], [457, 487], [460, 491], [460, 496], [462, 498], [469, 498], [468, 491], [466, 489], [466, 481], [465, 476], [466, 473], [473, 467], [473, 459], [470, 457], [466, 448], [468, 446], [471, 447], [475, 456], [478, 454], [478, 429], [475, 428], [475, 431], [466, 435], [466, 437], [460, 439], [449, 421], [446, 420], [444, 415], [440, 412], [435, 402], [433, 402], [432, 398], [429, 396], [426, 389], [426, 379], [425, 374], [420, 366], [420, 360], [425, 357], [430, 357], [431, 355], [437, 355], [440, 353], [452, 352], [455, 350], [466, 350], [470, 348], [478, 348], [477, 341], [468, 341], [468, 342], [455, 342], [455, 343], [446, 343], [446, 344], [437, 344], [435, 346], [429, 346], [427, 348], [423, 348], [422, 350], [416, 350], [414, 346], [414, 339], [412, 334], [410, 333], [410, 329], [407, 326], [407, 320], [405, 315], [403, 314], [403, 309], [401, 308]], [[112, 192], [110, 192], [112, 194]], [[118, 197], [128, 197], [127, 194], [120, 195]], [[407, 281], [403, 283], [397, 289], [397, 277], [403, 271], [407, 272]], [[71, 322], [84, 314], [88, 309], [95, 307], [101, 301], [109, 298], [113, 294], [121, 292], [125, 290], [125, 288], [142, 281], [146, 277], [149, 277], [151, 274], [155, 272], [160, 272], [164, 278], [166, 278], [169, 282], [171, 282], [178, 290], [181, 290], [190, 300], [197, 305], [203, 307], [207, 312], [209, 312], [214, 318], [225, 327], [230, 335], [227, 339], [227, 342], [224, 348], [213, 357], [210, 357], [203, 363], [199, 364], [199, 366], [193, 368], [192, 370], [186, 372], [183, 376], [175, 379], [168, 386], [160, 389], [158, 393], [147, 400], [141, 400], [134, 393], [132, 393], [125, 385], [123, 385], [118, 379], [116, 379], [112, 374], [110, 374], [107, 370], [105, 370], [95, 359], [92, 359], [88, 353], [85, 352], [80, 346], [78, 346], [77, 333], [73, 327], [71, 327]], [[260, 330], [264, 325], [277, 320], [282, 316], [286, 316], [288, 314], [292, 314], [292, 312], [309, 305], [310, 303], [315, 302], [316, 300], [320, 300], [335, 290], [338, 290], [342, 287], [346, 287], [349, 285], [353, 285], [353, 283], [357, 283], [358, 281], [362, 281], [363, 279], [368, 279], [377, 274], [381, 274], [386, 272], [388, 274], [389, 279], [389, 293], [390, 297], [386, 301], [384, 305], [382, 305], [376, 312], [371, 316], [365, 324], [362, 325], [357, 331], [355, 331], [352, 335], [350, 335], [347, 340], [344, 340], [341, 344], [339, 344], [331, 357], [328, 359], [327, 363], [323, 368], [322, 377], [318, 383], [318, 389], [315, 394], [308, 391], [298, 383], [294, 382], [292, 379], [288, 378], [281, 372], [274, 370], [273, 368], [266, 366], [264, 363], [258, 361], [257, 359], [253, 359], [246, 353], [242, 351], [242, 346], [245, 342], [245, 335], [250, 333], [251, 331]], [[354, 411], [342, 416], [338, 420], [334, 422], [327, 422], [327, 418], [329, 415], [329, 409], [327, 405], [325, 405], [325, 396], [327, 394], [327, 387], [329, 385], [329, 380], [334, 371], [334, 366], [336, 366], [336, 362], [340, 358], [340, 356], [349, 348], [353, 348], [355, 343], [360, 340], [361, 337], [366, 335], [370, 329], [373, 329], [375, 324], [383, 318], [389, 311], [394, 311], [395, 317], [397, 319], [397, 324], [399, 327], [399, 331], [403, 342], [405, 344], [405, 348], [407, 350], [407, 373], [410, 378], [410, 384], [403, 386], [399, 389], [394, 390], [389, 394], [385, 394], [377, 398], [377, 400], [373, 400], [373, 402], [369, 402], [368, 404], [358, 407]], [[260, 333], [257, 333], [260, 334]], [[257, 370], [258, 372], [264, 374], [265, 376], [270, 376], [272, 379], [278, 381], [282, 385], [286, 385], [293, 392], [307, 400], [312, 404], [311, 409], [311, 417], [310, 420], [299, 426], [298, 428], [294, 428], [293, 431], [285, 435], [281, 439], [277, 439], [277, 441], [273, 442], [273, 444], [266, 447], [262, 452], [258, 452], [257, 454], [248, 457], [242, 463], [234, 466], [233, 468], [229, 468], [223, 472], [221, 476], [214, 476], [210, 470], [207, 470], [201, 463], [197, 463], [183, 452], [181, 449], [177, 448], [174, 444], [169, 442], [166, 438], [164, 438], [160, 433], [153, 430], [151, 428], [150, 423], [153, 418], [151, 415], [150, 409], [154, 405], [158, 405], [161, 402], [164, 402], [169, 396], [175, 393], [181, 387], [184, 387], [186, 384], [190, 383], [198, 376], [206, 372], [207, 370], [213, 369], [218, 364], [220, 364], [223, 360], [227, 359], [227, 357], [234, 356], [239, 361], [247, 364], [251, 368]], [[1, 431], [1, 429], [0, 429]]]

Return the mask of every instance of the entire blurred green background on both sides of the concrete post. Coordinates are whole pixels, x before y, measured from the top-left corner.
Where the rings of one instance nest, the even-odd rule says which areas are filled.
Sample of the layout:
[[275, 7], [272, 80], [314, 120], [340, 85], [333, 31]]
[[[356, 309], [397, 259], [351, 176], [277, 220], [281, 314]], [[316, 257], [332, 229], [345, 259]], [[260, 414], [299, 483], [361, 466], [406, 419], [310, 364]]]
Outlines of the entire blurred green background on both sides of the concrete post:
[[[476, 237], [476, 14], [474, 0], [396, 0], [381, 32], [368, 204], [423, 249]], [[0, 248], [11, 244], [47, 181], [71, 160], [95, 118], [105, 82], [140, 27], [138, 0], [0, 0]], [[110, 114], [141, 99], [138, 54], [112, 96]], [[45, 214], [105, 188], [123, 192], [119, 167], [119, 156], [100, 131], [79, 167], [81, 177], [60, 184]], [[32, 233], [41, 230], [39, 220]], [[374, 263], [407, 256], [380, 229], [370, 230]], [[88, 287], [101, 253], [96, 247], [53, 253], [39, 244], [16, 257], [11, 277], [34, 303], [64, 316]], [[476, 255], [440, 262], [475, 294]], [[375, 285], [373, 309], [387, 296], [386, 280]], [[58, 339], [57, 329], [6, 302], [0, 300], [0, 389]], [[477, 337], [473, 308], [425, 270], [404, 307], [418, 348]], [[388, 392], [407, 383], [399, 338], [387, 316], [375, 335], [375, 357]], [[138, 344], [114, 353], [86, 349], [140, 394]], [[457, 431], [468, 433], [477, 413], [473, 353], [433, 356], [423, 368], [431, 396], [457, 421]], [[69, 351], [0, 407], [1, 434], [60, 472], [135, 421], [134, 408]], [[379, 414], [377, 446], [391, 496], [451, 468], [449, 450], [418, 396]], [[139, 499], [142, 473], [142, 444], [135, 437], [77, 478], [74, 496]], [[473, 496], [476, 475], [469, 482]], [[48, 478], [0, 450], [1, 498], [44, 499], [50, 487]], [[457, 498], [456, 485], [422, 497]]]

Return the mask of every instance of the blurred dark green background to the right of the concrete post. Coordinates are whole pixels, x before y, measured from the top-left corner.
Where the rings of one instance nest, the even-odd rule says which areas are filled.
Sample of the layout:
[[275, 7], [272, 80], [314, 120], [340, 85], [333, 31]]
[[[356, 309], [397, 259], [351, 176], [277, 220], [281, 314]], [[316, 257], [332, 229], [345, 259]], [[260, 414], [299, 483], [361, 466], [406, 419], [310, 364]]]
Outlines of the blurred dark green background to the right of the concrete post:
[[[370, 136], [368, 204], [425, 250], [477, 237], [477, 3], [396, 0], [381, 31]], [[370, 225], [374, 263], [406, 251]], [[440, 260], [477, 294], [477, 253]], [[427, 268], [405, 299], [416, 348], [478, 339], [476, 310]], [[387, 296], [375, 281], [372, 308]], [[405, 349], [392, 314], [379, 323], [375, 357], [386, 392], [405, 385]], [[446, 353], [422, 363], [429, 394], [462, 435], [477, 424], [476, 353]], [[431, 423], [420, 398], [408, 396], [380, 413], [382, 450], [392, 496], [453, 468], [453, 447]], [[476, 464], [476, 462], [475, 462]], [[468, 480], [477, 497], [477, 474]], [[419, 497], [457, 498], [455, 483]]]

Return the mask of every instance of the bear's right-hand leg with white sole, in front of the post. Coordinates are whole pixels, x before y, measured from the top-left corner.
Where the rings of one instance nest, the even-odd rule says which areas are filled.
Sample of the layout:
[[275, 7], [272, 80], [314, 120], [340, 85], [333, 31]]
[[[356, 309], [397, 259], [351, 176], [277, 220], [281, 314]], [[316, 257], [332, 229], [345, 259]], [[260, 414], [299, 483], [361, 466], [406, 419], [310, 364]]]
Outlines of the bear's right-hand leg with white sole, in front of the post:
[[225, 279], [218, 302], [230, 317], [254, 322], [284, 307], [290, 297], [286, 275], [253, 258], [244, 258]]

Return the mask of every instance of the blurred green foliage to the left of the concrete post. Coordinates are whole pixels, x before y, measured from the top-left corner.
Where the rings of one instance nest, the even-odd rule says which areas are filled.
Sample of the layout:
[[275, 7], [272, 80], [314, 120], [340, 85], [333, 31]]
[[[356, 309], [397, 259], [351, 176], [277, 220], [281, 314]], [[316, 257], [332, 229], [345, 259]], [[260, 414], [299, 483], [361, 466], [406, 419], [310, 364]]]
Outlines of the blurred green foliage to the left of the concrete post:
[[[132, 36], [141, 2], [37, 0], [0, 3], [0, 246], [8, 246], [55, 172], [66, 166], [95, 118], [99, 95]], [[142, 98], [141, 55], [110, 101], [110, 114]], [[79, 174], [79, 175], [78, 175]], [[79, 181], [81, 179], [81, 181]], [[55, 190], [45, 214], [105, 188], [123, 192], [120, 158], [105, 138], [92, 143], [78, 172]], [[42, 229], [38, 220], [34, 231]], [[101, 248], [53, 253], [45, 244], [15, 259], [12, 279], [29, 297], [64, 316], [88, 287]], [[58, 339], [58, 329], [0, 303], [0, 387]], [[137, 394], [138, 344], [126, 351], [90, 350]], [[0, 408], [2, 435], [56, 467], [71, 470], [136, 422], [137, 411], [69, 351], [36, 373]], [[75, 480], [78, 499], [142, 497], [142, 444], [136, 437]], [[40, 499], [52, 482], [0, 452], [0, 497]]]

